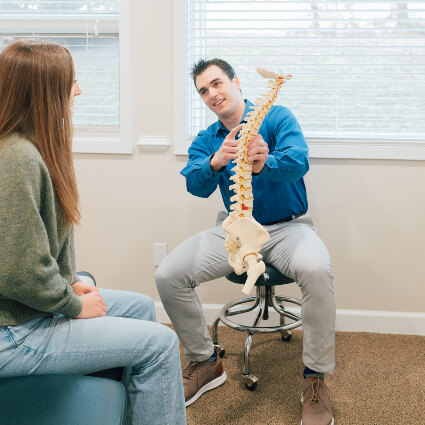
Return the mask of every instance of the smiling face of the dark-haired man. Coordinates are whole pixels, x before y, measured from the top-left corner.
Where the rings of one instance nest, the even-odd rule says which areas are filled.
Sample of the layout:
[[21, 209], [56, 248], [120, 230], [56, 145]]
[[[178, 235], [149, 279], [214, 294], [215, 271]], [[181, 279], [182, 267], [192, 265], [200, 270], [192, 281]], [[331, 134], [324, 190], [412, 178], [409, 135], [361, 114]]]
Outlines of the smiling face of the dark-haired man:
[[209, 66], [196, 77], [196, 88], [202, 100], [220, 119], [232, 116], [244, 103], [238, 77], [230, 80], [218, 66]]

